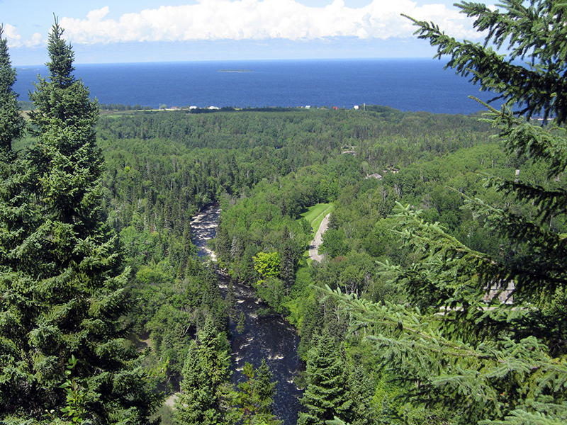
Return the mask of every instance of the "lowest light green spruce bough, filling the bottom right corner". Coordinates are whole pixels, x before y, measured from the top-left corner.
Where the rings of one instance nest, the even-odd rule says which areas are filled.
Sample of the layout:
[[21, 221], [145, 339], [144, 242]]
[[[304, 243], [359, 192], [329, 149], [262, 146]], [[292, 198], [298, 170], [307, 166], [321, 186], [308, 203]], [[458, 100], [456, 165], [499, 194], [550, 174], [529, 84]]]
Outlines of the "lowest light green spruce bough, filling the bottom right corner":
[[430, 407], [442, 403], [456, 414], [451, 422], [456, 424], [481, 419], [492, 424], [516, 410], [537, 412], [538, 403], [544, 401], [556, 411], [546, 414], [548, 419], [567, 414], [561, 404], [567, 390], [567, 363], [563, 357], [550, 356], [549, 347], [535, 336], [518, 341], [485, 338], [471, 344], [442, 330], [442, 322], [449, 321], [444, 314], [378, 305], [330, 288], [322, 291], [341, 301], [353, 318], [352, 329], [366, 329], [383, 370], [401, 385], [411, 384], [406, 401]]

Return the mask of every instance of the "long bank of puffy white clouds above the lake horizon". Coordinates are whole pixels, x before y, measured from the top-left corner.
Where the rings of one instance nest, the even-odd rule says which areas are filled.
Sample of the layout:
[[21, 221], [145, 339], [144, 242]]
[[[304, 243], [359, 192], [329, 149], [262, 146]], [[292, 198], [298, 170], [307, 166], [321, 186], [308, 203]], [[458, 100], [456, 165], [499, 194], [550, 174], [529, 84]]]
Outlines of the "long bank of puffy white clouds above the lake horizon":
[[410, 0], [374, 0], [361, 8], [342, 0], [315, 8], [294, 0], [201, 0], [186, 6], [161, 6], [128, 13], [118, 21], [107, 19], [105, 6], [84, 19], [61, 18], [69, 42], [174, 41], [174, 40], [288, 40], [328, 37], [361, 39], [411, 37], [414, 27], [405, 13], [434, 21], [457, 38], [478, 38], [471, 20], [443, 4], [417, 7]]

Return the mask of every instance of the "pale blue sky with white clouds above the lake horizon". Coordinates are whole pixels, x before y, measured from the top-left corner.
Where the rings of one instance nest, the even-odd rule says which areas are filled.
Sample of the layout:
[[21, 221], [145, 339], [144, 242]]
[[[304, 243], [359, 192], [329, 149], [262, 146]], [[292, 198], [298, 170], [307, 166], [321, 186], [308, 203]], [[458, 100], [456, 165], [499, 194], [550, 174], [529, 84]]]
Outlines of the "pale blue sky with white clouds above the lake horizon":
[[454, 0], [0, 0], [13, 66], [47, 62], [54, 16], [77, 64], [432, 57], [400, 13], [481, 40]]

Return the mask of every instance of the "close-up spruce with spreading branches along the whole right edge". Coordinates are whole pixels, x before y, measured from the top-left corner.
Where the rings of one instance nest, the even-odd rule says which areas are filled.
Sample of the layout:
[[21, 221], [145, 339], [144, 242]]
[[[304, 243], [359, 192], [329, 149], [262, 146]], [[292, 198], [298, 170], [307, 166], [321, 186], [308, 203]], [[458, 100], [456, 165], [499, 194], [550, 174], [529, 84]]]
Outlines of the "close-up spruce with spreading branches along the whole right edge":
[[[563, 424], [567, 238], [551, 218], [566, 223], [567, 5], [505, 0], [495, 10], [466, 1], [457, 6], [486, 31], [483, 45], [414, 21], [417, 34], [437, 47], [437, 56], [448, 55], [458, 74], [471, 74], [505, 101], [500, 110], [486, 105], [485, 119], [500, 128], [509, 154], [541, 164], [548, 180], [488, 177], [488, 186], [510, 196], [503, 208], [463, 195], [475, 217], [508, 241], [509, 258], [473, 251], [422, 220], [420, 211], [398, 204], [395, 232], [417, 261], [409, 268], [383, 264], [383, 271], [409, 294], [408, 304], [335, 295], [358, 319], [354, 326], [372, 334], [388, 373], [410, 383], [411, 402], [443, 404], [454, 424]], [[497, 53], [500, 48], [507, 56]], [[534, 115], [543, 124], [532, 123]], [[535, 213], [521, 215], [516, 207], [524, 204]], [[501, 303], [494, 295], [512, 283], [513, 303]]]

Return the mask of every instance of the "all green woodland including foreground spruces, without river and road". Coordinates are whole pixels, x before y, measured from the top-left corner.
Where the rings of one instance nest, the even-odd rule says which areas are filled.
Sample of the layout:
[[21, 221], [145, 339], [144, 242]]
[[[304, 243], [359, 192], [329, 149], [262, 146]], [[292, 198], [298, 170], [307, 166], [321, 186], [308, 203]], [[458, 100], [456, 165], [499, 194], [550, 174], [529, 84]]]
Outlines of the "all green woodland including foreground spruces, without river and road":
[[[26, 122], [0, 30], [0, 423], [280, 424], [265, 362], [231, 384], [218, 273], [301, 336], [298, 424], [564, 423], [564, 6], [505, 4], [460, 7], [541, 66], [415, 24], [521, 113], [99, 117], [56, 22]], [[525, 16], [543, 35], [515, 38]], [[210, 203], [213, 263], [191, 243]]]

